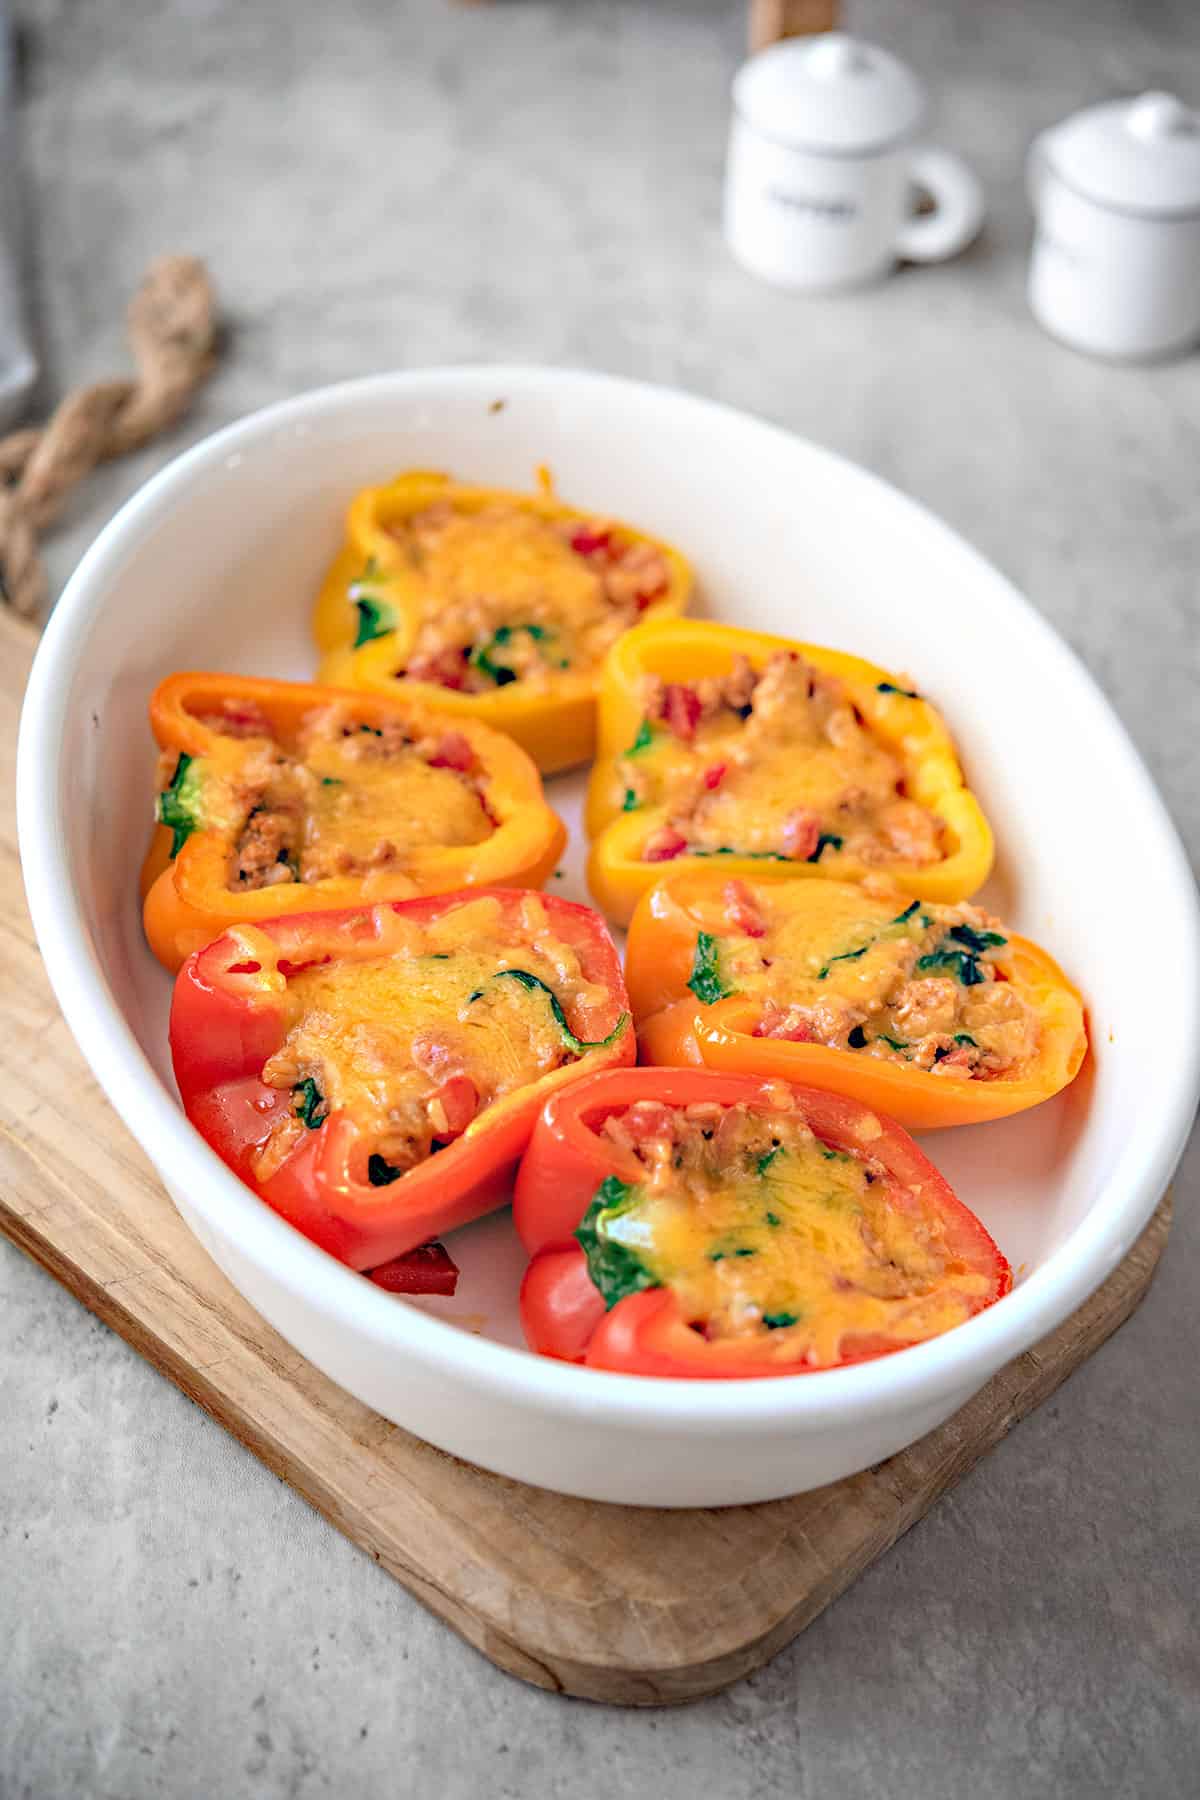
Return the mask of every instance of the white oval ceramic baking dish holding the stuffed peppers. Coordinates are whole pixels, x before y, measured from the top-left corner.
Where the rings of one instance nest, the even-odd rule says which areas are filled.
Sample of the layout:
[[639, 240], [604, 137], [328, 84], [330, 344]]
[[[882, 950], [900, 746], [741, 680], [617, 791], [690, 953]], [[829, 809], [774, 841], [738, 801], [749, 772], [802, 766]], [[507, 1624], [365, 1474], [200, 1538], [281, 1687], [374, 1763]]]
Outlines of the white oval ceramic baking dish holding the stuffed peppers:
[[[500, 405], [497, 405], [500, 403]], [[793, 1381], [667, 1382], [520, 1348], [507, 1215], [453, 1242], [453, 1301], [407, 1303], [315, 1249], [191, 1130], [166, 1049], [169, 983], [140, 938], [146, 700], [175, 668], [308, 675], [309, 603], [356, 488], [403, 466], [525, 486], [676, 542], [702, 610], [856, 650], [946, 713], [997, 828], [988, 889], [1081, 985], [1094, 1057], [1033, 1114], [927, 1150], [1018, 1273], [914, 1350]], [[1090, 677], [1009, 583], [914, 502], [725, 407], [552, 369], [430, 369], [304, 394], [219, 432], [101, 533], [47, 628], [22, 724], [20, 835], [54, 990], [176, 1206], [259, 1312], [396, 1424], [596, 1499], [727, 1505], [862, 1469], [946, 1418], [1123, 1258], [1193, 1116], [1200, 929], [1164, 806]], [[581, 779], [552, 785], [572, 824]], [[1146, 947], [1171, 947], [1171, 981]], [[1164, 1001], [1173, 1013], [1164, 1015]]]

